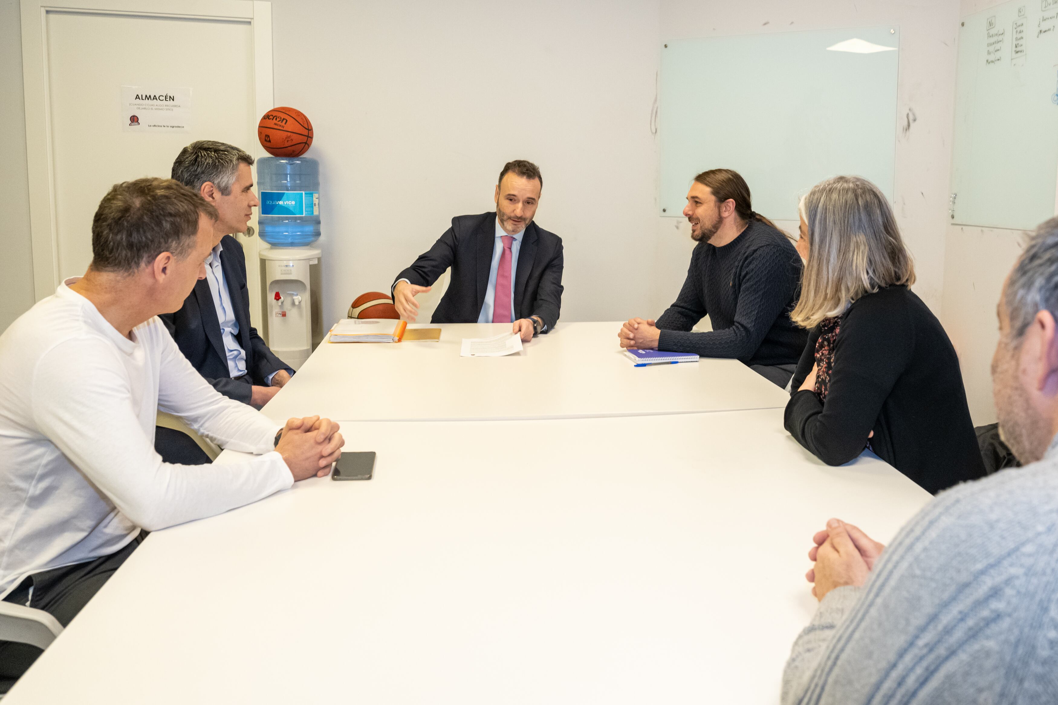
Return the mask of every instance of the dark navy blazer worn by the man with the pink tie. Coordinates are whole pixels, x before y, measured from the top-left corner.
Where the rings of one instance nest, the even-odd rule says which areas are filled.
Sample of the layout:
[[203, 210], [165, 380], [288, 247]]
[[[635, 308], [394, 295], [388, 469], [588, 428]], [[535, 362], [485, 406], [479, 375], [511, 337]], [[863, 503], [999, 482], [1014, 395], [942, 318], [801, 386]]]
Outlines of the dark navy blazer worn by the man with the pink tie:
[[[419, 286], [433, 286], [452, 267], [449, 290], [434, 311], [434, 323], [476, 323], [489, 289], [489, 270], [496, 239], [495, 211], [480, 216], [457, 216], [452, 227], [419, 255], [412, 266], [397, 275], [394, 285], [407, 279]], [[514, 317], [540, 316], [550, 331], [562, 307], [562, 238], [536, 223], [529, 223], [514, 272]]]

